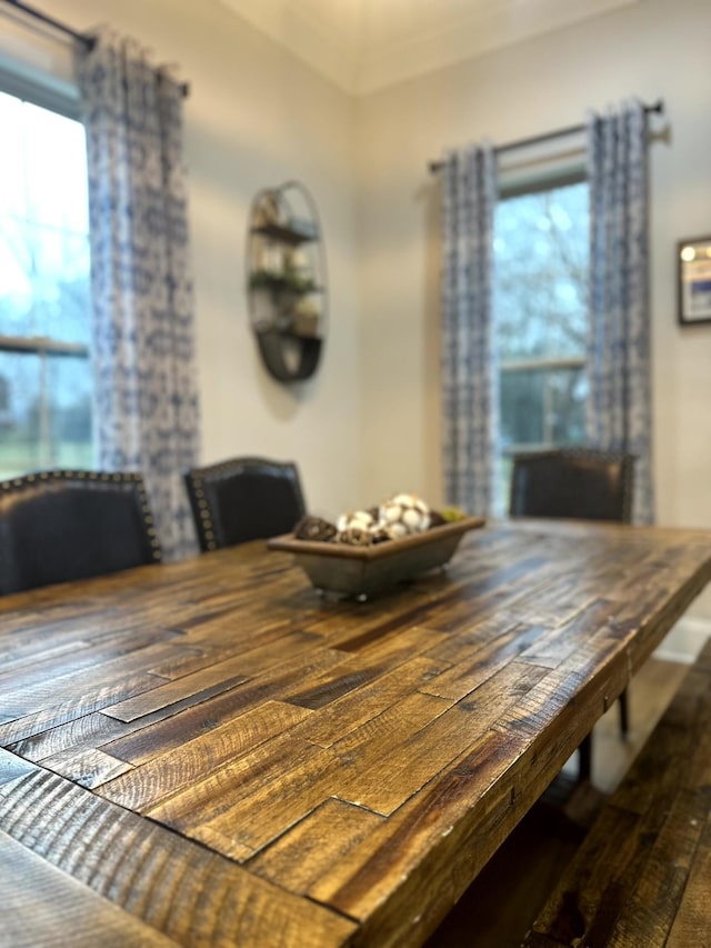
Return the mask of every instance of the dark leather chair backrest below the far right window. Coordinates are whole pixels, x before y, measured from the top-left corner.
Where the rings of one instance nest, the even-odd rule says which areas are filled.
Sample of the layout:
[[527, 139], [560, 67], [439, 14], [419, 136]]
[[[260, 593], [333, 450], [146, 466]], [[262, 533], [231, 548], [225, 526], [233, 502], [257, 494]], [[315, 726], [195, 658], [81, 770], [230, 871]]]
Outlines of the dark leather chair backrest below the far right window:
[[632, 519], [634, 457], [624, 451], [570, 448], [515, 455], [512, 517]]

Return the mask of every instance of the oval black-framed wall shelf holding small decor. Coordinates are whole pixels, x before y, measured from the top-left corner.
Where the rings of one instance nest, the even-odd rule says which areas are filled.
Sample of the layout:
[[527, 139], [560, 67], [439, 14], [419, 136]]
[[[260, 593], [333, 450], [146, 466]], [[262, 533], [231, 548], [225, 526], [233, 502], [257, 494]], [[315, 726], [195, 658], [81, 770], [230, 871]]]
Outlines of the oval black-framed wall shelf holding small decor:
[[260, 191], [250, 211], [248, 297], [270, 373], [301, 381], [317, 370], [327, 317], [326, 256], [316, 203], [298, 181]]

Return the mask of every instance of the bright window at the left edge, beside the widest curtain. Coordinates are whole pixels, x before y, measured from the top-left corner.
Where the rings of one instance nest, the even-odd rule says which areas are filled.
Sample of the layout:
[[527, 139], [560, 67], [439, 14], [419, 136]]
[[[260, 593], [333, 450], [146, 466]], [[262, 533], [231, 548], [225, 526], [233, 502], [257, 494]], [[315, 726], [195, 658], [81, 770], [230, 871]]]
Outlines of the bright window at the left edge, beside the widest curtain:
[[4, 92], [0, 123], [0, 477], [91, 467], [83, 127]]

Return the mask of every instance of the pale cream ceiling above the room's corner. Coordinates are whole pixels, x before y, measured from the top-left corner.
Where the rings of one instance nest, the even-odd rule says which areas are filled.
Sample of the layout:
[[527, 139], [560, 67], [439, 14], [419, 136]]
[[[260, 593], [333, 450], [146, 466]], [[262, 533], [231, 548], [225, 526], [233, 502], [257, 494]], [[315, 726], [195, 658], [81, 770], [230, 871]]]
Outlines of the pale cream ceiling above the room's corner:
[[352, 94], [641, 0], [218, 0]]

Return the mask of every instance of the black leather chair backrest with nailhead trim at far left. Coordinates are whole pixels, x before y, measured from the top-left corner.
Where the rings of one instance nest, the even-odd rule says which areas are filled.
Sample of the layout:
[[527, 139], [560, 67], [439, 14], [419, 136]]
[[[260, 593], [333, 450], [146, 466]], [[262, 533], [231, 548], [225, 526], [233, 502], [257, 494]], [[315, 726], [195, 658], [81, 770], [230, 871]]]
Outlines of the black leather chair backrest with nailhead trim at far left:
[[139, 473], [52, 470], [0, 482], [0, 593], [157, 562]]

